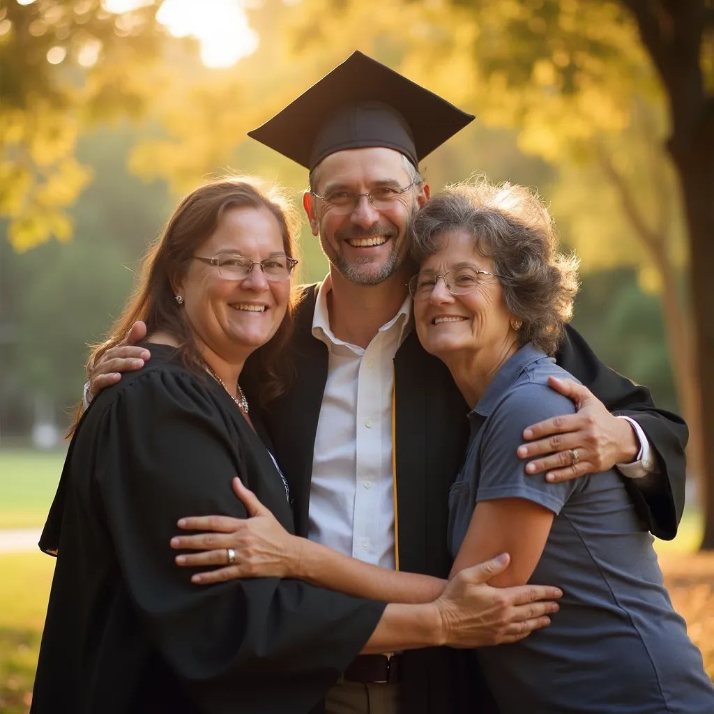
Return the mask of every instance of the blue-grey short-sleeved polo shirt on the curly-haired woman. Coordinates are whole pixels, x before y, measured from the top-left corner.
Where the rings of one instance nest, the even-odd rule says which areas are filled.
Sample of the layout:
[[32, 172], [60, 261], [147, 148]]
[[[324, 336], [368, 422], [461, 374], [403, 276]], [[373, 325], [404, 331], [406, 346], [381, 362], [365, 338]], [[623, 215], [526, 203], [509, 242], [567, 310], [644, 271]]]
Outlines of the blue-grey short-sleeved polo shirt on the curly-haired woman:
[[532, 344], [506, 361], [469, 414], [449, 494], [455, 557], [478, 501], [526, 498], [555, 518], [533, 583], [563, 589], [550, 627], [474, 650], [501, 714], [713, 714], [714, 687], [675, 613], [653, 538], [614, 470], [547, 483], [516, 456], [523, 430], [574, 413], [548, 376], [573, 378]]

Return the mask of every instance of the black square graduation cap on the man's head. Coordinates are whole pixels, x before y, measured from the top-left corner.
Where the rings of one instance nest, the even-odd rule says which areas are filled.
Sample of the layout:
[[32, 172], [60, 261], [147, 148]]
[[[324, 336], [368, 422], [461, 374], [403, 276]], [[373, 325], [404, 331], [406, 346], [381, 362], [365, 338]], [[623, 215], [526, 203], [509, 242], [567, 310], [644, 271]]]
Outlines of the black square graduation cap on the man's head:
[[473, 118], [354, 52], [248, 136], [310, 170], [336, 151], [366, 146], [396, 149], [417, 166]]

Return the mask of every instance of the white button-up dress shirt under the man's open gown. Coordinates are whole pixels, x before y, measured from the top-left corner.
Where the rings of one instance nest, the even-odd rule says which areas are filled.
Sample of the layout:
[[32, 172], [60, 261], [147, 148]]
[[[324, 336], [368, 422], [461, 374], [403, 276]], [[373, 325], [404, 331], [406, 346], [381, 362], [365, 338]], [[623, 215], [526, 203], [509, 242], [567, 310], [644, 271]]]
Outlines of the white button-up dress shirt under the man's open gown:
[[336, 338], [320, 286], [312, 332], [329, 352], [310, 489], [308, 537], [383, 568], [395, 567], [393, 358], [411, 328], [411, 298], [366, 348]]

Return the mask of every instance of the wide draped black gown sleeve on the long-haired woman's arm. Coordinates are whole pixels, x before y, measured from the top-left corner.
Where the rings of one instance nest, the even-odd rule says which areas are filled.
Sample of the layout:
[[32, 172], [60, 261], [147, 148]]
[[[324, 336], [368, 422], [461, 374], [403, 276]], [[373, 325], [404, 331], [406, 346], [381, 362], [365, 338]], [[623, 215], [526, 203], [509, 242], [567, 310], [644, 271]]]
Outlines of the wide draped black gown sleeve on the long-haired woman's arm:
[[236, 473], [268, 508], [289, 513], [278, 475], [257, 473], [267, 454], [253, 453], [245, 429], [241, 437], [233, 408], [189, 373], [134, 380], [84, 425], [94, 432], [94, 508], [149, 640], [201, 711], [307, 711], [361, 650], [384, 603], [289, 579], [199, 586], [176, 567], [178, 518], [246, 517], [231, 491]]

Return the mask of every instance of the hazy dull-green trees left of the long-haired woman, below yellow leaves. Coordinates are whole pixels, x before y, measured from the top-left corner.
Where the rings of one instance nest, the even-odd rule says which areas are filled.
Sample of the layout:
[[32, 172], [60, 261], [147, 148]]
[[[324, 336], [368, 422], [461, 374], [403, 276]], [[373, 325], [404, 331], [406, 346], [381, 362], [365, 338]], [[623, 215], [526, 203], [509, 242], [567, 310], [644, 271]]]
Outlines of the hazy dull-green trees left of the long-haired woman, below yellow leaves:
[[76, 226], [70, 243], [49, 241], [24, 253], [3, 246], [4, 433], [26, 429], [35, 395], [49, 398], [57, 423], [66, 426], [67, 411], [81, 397], [87, 343], [101, 339], [119, 314], [139, 258], [171, 212], [164, 183], [147, 186], [129, 173], [126, 152], [135, 141], [128, 126], [79, 139], [78, 160], [96, 181], [69, 211]]

